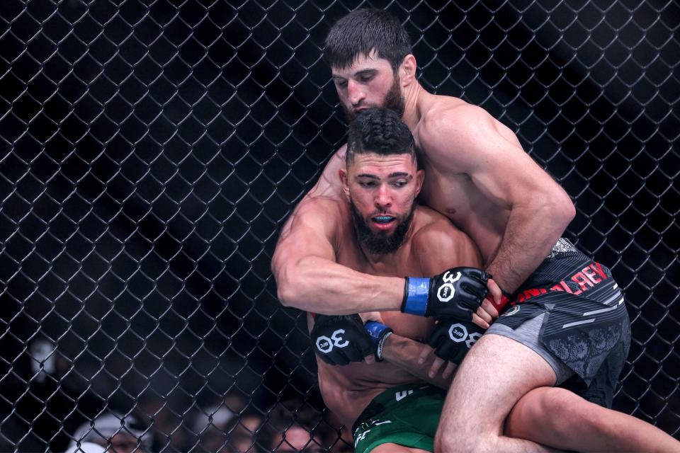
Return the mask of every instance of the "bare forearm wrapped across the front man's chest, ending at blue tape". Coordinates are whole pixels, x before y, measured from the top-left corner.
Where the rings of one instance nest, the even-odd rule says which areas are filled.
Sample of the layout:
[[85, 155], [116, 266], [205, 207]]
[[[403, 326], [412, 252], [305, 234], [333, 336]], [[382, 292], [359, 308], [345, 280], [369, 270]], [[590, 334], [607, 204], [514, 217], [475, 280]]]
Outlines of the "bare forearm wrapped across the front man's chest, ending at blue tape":
[[396, 311], [404, 297], [404, 279], [356, 272], [323, 258], [303, 258], [276, 278], [285, 306], [338, 315]]

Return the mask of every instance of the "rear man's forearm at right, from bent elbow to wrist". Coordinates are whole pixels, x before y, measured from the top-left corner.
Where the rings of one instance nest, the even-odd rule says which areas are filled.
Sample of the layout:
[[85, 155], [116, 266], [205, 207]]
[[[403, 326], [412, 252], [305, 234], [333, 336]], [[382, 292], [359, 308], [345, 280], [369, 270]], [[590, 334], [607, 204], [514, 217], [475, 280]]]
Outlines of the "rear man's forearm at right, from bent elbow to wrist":
[[504, 291], [514, 292], [543, 262], [571, 222], [571, 212], [555, 205], [511, 211], [499, 250], [486, 268]]

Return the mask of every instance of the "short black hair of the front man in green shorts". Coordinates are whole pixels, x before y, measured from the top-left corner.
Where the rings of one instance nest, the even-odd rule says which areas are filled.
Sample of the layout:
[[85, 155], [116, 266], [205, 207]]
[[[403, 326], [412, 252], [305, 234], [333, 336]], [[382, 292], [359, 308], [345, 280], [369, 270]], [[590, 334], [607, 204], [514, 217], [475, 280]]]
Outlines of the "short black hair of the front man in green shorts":
[[368, 153], [382, 156], [411, 154], [413, 161], [418, 161], [413, 134], [389, 108], [362, 110], [349, 125], [346, 164], [351, 164], [355, 154]]

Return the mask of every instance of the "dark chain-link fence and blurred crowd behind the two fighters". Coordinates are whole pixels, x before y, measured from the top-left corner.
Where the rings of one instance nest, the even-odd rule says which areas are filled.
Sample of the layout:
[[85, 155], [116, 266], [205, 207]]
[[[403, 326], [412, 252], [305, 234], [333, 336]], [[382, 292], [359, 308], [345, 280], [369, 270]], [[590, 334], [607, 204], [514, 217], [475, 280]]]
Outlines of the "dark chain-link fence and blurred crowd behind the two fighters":
[[1, 452], [352, 451], [270, 265], [344, 142], [321, 47], [357, 6], [570, 193], [633, 323], [615, 408], [680, 438], [677, 1], [3, 0]]

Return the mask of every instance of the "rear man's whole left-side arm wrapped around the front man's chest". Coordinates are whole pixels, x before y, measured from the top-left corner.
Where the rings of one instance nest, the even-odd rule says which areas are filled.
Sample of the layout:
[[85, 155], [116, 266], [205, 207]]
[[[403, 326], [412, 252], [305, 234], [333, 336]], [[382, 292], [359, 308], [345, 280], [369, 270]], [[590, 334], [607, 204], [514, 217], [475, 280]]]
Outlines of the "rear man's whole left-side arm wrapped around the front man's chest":
[[376, 277], [336, 263], [341, 229], [351, 222], [341, 202], [310, 197], [295, 210], [272, 259], [280, 302], [329, 315], [399, 310], [403, 278]]

